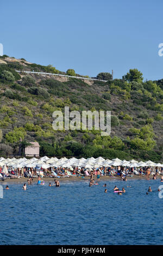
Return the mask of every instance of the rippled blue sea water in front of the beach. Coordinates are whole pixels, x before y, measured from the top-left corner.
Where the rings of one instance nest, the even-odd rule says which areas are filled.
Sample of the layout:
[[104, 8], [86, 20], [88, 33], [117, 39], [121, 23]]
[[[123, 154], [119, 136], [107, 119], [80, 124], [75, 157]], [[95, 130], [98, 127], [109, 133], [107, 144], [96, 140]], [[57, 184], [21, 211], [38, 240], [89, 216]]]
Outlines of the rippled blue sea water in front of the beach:
[[[114, 193], [115, 185], [126, 193]], [[94, 187], [82, 180], [23, 190], [9, 183], [0, 199], [0, 245], [162, 245], [160, 185], [113, 178]], [[149, 186], [153, 192], [147, 195]]]

